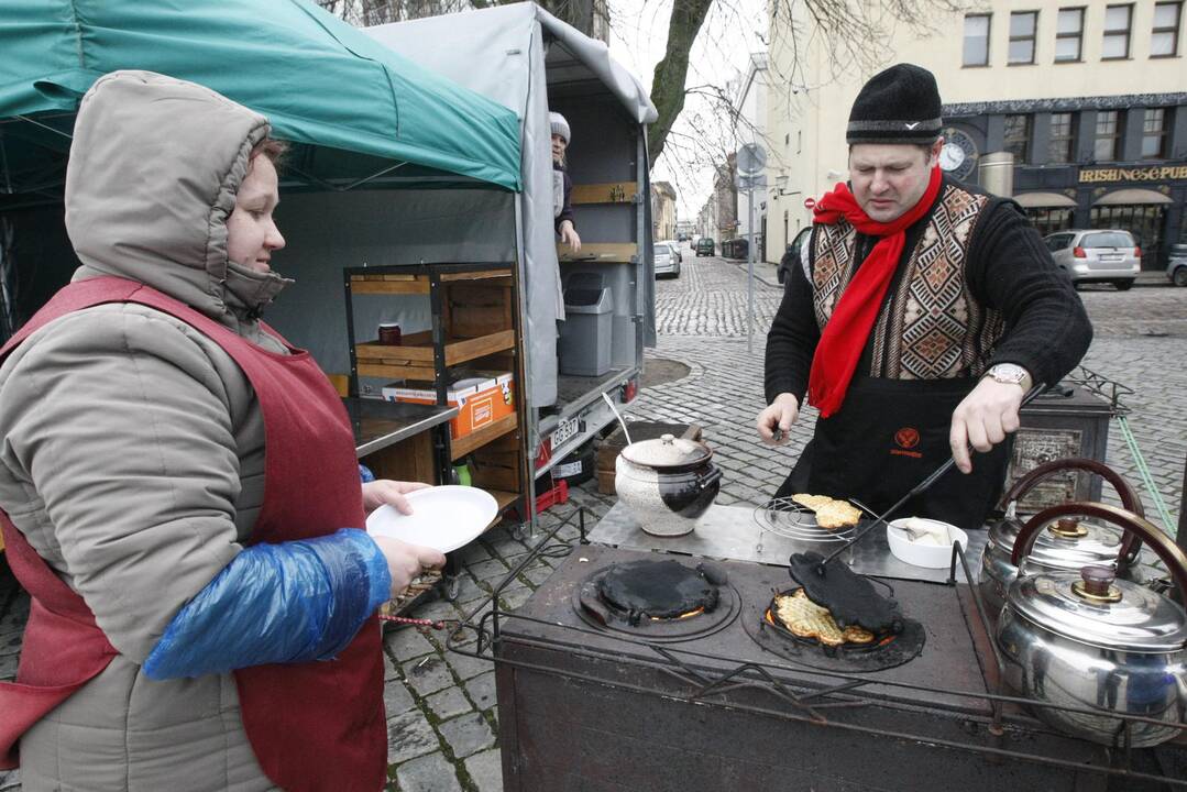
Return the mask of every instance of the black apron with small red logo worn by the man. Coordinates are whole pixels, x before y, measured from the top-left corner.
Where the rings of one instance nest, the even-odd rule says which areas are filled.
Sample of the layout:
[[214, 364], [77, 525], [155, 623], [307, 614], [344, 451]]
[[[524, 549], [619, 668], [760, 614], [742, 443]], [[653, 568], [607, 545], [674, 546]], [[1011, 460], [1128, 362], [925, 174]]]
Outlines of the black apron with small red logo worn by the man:
[[[952, 412], [976, 379], [889, 380], [855, 376], [845, 401], [815, 433], [775, 493], [856, 498], [881, 514], [948, 457]], [[982, 528], [1002, 496], [1013, 436], [972, 455], [972, 473], [953, 468], [893, 518], [925, 517]]]

